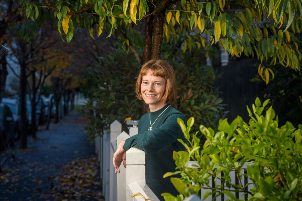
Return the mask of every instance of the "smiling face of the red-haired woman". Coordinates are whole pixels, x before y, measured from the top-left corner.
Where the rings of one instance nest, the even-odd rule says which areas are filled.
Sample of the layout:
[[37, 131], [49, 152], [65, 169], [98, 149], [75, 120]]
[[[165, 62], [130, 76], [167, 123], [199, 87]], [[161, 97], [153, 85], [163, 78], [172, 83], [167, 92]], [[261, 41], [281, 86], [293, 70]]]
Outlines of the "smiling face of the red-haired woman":
[[156, 111], [166, 105], [165, 101], [160, 101], [165, 93], [165, 78], [153, 76], [150, 71], [143, 76], [140, 90], [143, 100], [149, 105], [150, 111]]

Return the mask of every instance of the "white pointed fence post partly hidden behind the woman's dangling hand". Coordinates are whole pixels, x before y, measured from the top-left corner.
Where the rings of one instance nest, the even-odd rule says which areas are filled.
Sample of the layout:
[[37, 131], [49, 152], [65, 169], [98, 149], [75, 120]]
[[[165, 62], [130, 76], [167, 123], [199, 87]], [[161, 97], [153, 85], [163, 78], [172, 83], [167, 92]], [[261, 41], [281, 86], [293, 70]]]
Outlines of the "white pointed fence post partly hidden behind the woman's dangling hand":
[[[117, 146], [121, 141], [128, 139], [130, 136], [123, 131], [116, 138]], [[120, 165], [120, 174], [117, 174], [117, 201], [125, 201], [126, 196], [126, 168], [123, 164]]]

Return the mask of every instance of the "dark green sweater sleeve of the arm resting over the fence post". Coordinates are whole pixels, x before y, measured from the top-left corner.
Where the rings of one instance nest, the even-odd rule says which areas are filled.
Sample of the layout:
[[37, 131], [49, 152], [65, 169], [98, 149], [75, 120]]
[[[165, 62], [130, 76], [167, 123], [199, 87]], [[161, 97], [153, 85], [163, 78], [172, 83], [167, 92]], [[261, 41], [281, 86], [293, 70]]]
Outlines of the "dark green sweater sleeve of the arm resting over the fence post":
[[178, 138], [183, 138], [183, 133], [177, 123], [177, 118], [181, 118], [186, 122], [184, 115], [169, 115], [165, 122], [158, 128], [153, 128], [152, 130], [128, 138], [125, 141], [124, 150], [127, 151], [130, 147], [136, 147], [137, 149], [143, 150], [146, 154], [149, 154], [175, 143]]

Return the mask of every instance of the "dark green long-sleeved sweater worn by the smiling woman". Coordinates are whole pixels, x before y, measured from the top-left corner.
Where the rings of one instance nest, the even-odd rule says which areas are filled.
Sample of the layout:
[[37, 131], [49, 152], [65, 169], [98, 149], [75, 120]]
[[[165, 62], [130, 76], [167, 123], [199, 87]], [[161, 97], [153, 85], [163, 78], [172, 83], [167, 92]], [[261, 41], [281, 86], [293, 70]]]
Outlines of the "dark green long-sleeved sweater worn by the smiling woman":
[[[158, 111], [151, 112], [151, 124], [162, 111], [169, 105]], [[186, 142], [184, 134], [177, 123], [177, 118], [187, 122], [185, 115], [170, 106], [157, 121], [150, 127], [149, 113], [143, 115], [138, 121], [138, 134], [128, 138], [124, 144], [124, 150], [136, 147], [146, 155], [146, 184], [160, 199], [164, 200], [161, 193], [171, 193], [176, 196], [179, 193], [170, 181], [170, 177], [162, 178], [166, 172], [175, 171], [175, 161], [172, 158], [173, 151], [185, 150], [185, 147], [177, 141], [181, 138]]]

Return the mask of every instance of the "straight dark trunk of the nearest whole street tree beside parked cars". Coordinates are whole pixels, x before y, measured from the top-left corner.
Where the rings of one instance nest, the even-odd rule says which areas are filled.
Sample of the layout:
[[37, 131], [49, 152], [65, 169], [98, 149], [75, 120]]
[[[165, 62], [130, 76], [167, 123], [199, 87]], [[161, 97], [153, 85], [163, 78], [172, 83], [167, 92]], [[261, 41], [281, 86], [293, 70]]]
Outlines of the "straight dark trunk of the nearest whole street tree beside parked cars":
[[[20, 43], [21, 49], [25, 50], [25, 43]], [[25, 51], [22, 51], [21, 75], [20, 75], [20, 106], [21, 106], [21, 138], [20, 148], [27, 148], [27, 124], [26, 124], [26, 63]]]

